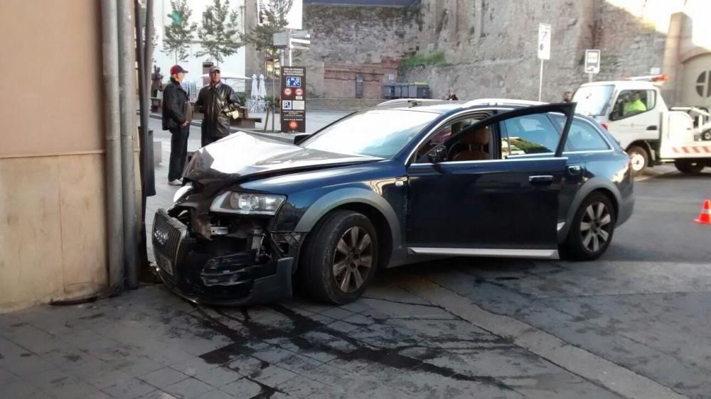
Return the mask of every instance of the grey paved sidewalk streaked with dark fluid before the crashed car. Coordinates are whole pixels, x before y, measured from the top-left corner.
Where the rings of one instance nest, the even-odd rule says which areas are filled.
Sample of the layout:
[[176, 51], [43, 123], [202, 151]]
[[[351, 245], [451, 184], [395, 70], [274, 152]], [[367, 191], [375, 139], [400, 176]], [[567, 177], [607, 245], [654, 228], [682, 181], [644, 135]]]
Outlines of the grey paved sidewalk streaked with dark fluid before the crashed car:
[[397, 280], [343, 307], [199, 307], [156, 285], [0, 315], [0, 397], [616, 397]]

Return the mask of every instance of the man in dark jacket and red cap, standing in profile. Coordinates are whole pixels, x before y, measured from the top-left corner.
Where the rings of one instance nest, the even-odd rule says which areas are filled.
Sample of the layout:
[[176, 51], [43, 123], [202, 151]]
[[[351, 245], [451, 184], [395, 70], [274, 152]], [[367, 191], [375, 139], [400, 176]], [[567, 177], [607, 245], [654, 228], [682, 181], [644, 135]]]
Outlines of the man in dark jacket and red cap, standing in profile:
[[181, 86], [188, 71], [180, 65], [171, 67], [171, 82], [163, 90], [163, 130], [171, 132], [171, 160], [168, 168], [168, 184], [182, 185], [181, 177], [188, 155], [188, 135], [193, 109], [188, 93]]

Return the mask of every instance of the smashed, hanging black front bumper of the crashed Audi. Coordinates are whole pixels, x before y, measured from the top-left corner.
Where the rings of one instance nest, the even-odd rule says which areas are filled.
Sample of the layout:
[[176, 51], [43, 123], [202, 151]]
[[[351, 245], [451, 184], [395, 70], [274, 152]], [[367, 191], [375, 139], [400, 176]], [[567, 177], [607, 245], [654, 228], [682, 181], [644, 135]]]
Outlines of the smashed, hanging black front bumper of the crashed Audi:
[[191, 302], [242, 306], [292, 297], [294, 258], [213, 251], [164, 209], [154, 219], [153, 248], [161, 280]]

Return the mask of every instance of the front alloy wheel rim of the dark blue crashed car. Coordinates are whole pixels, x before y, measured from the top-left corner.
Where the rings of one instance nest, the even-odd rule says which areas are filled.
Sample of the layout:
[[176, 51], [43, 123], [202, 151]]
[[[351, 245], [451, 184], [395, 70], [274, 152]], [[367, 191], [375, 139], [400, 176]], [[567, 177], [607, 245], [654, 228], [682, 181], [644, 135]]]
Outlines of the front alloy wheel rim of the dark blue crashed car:
[[344, 293], [353, 293], [363, 285], [373, 267], [373, 240], [362, 227], [348, 229], [336, 245], [333, 278]]

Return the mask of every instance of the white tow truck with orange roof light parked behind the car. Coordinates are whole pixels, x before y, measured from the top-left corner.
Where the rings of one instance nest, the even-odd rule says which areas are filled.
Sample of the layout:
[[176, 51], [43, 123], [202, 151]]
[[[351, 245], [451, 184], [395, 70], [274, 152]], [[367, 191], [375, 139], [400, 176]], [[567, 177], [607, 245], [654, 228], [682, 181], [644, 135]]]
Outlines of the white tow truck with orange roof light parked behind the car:
[[673, 162], [683, 173], [711, 167], [711, 114], [693, 106], [668, 108], [659, 85], [664, 75], [582, 84], [576, 112], [594, 117], [629, 153], [637, 175]]

